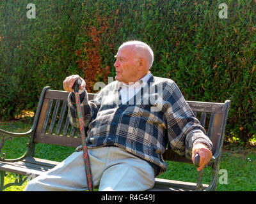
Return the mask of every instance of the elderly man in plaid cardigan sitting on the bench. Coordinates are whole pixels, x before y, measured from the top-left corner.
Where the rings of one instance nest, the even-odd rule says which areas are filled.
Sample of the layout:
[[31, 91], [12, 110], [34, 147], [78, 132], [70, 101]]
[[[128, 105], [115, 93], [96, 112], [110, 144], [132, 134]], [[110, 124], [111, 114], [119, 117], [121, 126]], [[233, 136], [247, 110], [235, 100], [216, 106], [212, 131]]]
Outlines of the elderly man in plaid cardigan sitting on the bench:
[[[154, 77], [149, 69], [154, 54], [141, 41], [128, 41], [116, 54], [115, 82], [88, 100], [85, 82], [78, 75], [63, 82], [68, 95], [71, 124], [78, 128], [72, 85], [77, 78], [93, 186], [99, 191], [145, 191], [166, 171], [162, 154], [168, 142], [182, 156], [194, 161], [200, 155], [201, 170], [211, 159], [212, 143], [170, 79]], [[79, 151], [80, 150], [80, 151]], [[83, 151], [77, 148], [45, 175], [36, 177], [27, 191], [84, 191], [87, 188]]]

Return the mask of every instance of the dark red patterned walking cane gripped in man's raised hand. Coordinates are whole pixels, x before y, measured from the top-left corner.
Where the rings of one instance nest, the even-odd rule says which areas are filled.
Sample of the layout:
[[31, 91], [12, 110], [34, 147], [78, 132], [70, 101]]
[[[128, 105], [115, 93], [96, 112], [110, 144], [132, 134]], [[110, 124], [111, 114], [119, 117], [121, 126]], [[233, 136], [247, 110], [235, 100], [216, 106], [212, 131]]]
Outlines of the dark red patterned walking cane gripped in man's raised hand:
[[81, 102], [80, 102], [80, 97], [79, 97], [79, 85], [81, 85], [81, 83], [82, 83], [81, 80], [79, 78], [77, 78], [77, 80], [74, 83], [72, 89], [74, 90], [75, 98], [76, 98], [76, 110], [77, 110], [77, 115], [78, 115], [78, 118], [79, 118], [79, 129], [80, 129], [81, 138], [82, 138], [83, 156], [84, 156], [85, 173], [86, 173], [88, 189], [89, 189], [89, 191], [93, 191], [92, 173], [91, 173], [91, 170], [90, 170], [87, 145], [86, 145], [86, 141], [85, 141], [83, 115], [82, 115]]

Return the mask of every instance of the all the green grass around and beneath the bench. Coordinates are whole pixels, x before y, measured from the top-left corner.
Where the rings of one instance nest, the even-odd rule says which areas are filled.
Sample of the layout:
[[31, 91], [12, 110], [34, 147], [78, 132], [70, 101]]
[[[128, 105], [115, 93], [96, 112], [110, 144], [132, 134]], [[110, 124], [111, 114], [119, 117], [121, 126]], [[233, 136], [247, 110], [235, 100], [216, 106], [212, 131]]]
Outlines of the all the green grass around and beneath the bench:
[[[25, 132], [31, 128], [31, 122], [27, 120], [18, 122], [0, 122], [0, 128], [13, 132]], [[13, 138], [6, 141], [2, 152], [6, 153], [6, 158], [16, 158], [22, 156], [26, 151], [27, 138]], [[60, 147], [55, 145], [36, 145], [35, 157], [50, 159], [53, 161], [63, 161], [74, 152], [74, 148]], [[159, 178], [196, 182], [197, 171], [192, 164], [176, 163], [167, 161], [168, 171]], [[221, 155], [220, 170], [227, 170], [227, 184], [217, 184], [217, 191], [256, 191], [256, 149], [241, 150], [241, 148], [225, 150]], [[219, 178], [222, 174], [219, 175]], [[4, 184], [14, 182], [17, 175], [8, 173]], [[202, 182], [209, 184], [211, 180], [211, 168], [204, 170]], [[4, 191], [22, 191], [26, 186], [25, 182], [21, 187], [12, 186]]]

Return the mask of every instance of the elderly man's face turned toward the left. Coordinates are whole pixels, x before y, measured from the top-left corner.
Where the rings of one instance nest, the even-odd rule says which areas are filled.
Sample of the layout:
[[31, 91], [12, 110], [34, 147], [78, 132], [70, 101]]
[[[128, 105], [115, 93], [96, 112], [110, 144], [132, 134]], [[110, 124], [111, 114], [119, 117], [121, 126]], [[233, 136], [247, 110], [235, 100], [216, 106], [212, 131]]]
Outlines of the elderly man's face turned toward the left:
[[136, 82], [138, 75], [138, 58], [131, 46], [125, 46], [116, 54], [116, 68], [115, 80], [129, 84], [129, 82]]

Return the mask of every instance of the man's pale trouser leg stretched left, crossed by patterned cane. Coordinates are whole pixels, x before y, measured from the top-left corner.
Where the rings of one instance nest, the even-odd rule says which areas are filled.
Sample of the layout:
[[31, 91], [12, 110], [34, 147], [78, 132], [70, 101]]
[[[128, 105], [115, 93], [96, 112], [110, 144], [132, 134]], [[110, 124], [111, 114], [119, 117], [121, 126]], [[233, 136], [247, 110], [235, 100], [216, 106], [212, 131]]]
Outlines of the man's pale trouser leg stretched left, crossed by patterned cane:
[[[99, 151], [97, 152], [99, 153]], [[104, 154], [104, 152], [100, 152]], [[93, 186], [99, 185], [104, 161], [88, 150]], [[104, 157], [104, 155], [103, 155]], [[24, 191], [86, 191], [88, 190], [83, 151], [74, 152], [63, 162], [28, 182]]]

